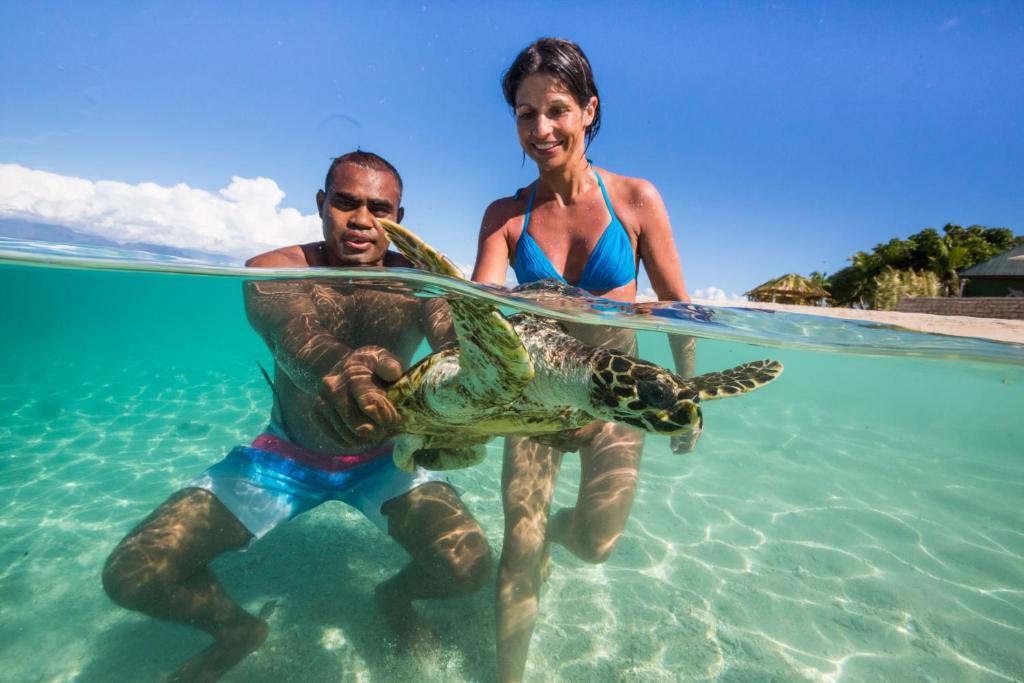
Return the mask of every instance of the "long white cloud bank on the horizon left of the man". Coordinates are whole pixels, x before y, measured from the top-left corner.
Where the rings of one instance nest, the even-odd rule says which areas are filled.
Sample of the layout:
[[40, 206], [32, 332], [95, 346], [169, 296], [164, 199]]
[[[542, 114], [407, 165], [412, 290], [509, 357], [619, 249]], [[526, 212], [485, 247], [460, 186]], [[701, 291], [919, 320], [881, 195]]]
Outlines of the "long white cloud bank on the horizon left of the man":
[[240, 259], [319, 237], [316, 214], [282, 208], [284, 198], [269, 178], [236, 176], [213, 194], [183, 183], [92, 181], [0, 164], [0, 218]]

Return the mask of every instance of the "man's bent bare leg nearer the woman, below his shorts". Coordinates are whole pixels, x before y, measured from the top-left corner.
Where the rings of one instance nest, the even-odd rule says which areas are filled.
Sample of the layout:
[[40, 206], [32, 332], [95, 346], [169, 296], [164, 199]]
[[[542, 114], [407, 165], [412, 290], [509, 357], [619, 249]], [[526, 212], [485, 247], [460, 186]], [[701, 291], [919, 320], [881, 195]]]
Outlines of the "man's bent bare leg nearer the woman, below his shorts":
[[413, 601], [470, 593], [490, 573], [483, 529], [455, 490], [430, 481], [381, 506], [388, 533], [413, 556], [401, 571], [377, 588], [377, 601], [399, 638], [399, 646], [424, 637]]

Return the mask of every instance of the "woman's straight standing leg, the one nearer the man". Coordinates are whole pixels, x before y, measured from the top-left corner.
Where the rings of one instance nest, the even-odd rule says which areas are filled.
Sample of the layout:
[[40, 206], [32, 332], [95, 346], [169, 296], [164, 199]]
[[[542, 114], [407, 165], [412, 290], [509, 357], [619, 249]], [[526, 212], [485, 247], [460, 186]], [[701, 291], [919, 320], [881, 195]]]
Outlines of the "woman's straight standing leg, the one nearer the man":
[[498, 567], [498, 678], [521, 681], [540, 605], [548, 511], [562, 454], [508, 437], [502, 467], [505, 540]]

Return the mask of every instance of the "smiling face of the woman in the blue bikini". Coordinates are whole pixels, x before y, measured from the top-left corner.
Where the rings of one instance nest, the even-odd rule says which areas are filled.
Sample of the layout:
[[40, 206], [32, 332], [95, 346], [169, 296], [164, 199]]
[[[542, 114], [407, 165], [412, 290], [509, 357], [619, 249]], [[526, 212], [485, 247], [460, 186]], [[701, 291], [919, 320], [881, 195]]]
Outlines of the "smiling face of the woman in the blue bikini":
[[597, 97], [581, 108], [561, 81], [531, 74], [515, 94], [519, 144], [540, 169], [564, 167], [584, 158], [587, 127], [594, 121]]

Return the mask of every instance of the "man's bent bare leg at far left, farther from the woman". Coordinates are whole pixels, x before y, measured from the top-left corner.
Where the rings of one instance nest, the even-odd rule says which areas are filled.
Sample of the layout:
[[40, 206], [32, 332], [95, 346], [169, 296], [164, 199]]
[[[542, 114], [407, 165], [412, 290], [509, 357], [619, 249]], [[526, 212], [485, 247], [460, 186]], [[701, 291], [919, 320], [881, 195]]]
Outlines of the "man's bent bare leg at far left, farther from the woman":
[[251, 540], [213, 494], [184, 488], [132, 529], [106, 560], [103, 588], [115, 602], [214, 637], [216, 642], [182, 665], [172, 680], [217, 680], [266, 638], [266, 623], [232, 601], [208, 567], [213, 558]]

